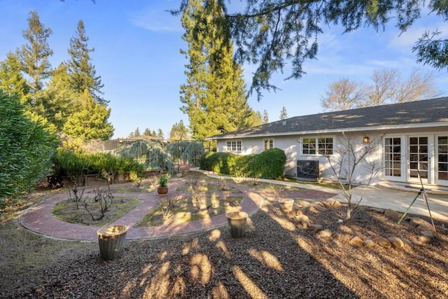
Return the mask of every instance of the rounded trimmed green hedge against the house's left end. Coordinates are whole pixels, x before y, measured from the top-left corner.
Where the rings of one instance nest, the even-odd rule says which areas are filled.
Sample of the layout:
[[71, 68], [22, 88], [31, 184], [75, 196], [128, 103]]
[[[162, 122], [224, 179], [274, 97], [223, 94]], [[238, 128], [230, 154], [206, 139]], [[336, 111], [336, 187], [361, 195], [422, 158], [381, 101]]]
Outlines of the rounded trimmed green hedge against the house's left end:
[[200, 161], [200, 169], [258, 179], [279, 179], [286, 163], [285, 152], [271, 148], [254, 155], [232, 153], [206, 153]]

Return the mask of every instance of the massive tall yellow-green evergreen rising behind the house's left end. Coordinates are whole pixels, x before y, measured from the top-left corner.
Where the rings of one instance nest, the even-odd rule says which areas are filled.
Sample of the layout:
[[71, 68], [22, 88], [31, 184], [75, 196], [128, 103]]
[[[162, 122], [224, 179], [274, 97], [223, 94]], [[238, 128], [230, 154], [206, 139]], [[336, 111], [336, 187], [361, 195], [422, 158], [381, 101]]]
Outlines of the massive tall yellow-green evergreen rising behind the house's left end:
[[221, 1], [189, 1], [181, 21], [188, 50], [181, 50], [187, 83], [181, 85], [181, 111], [190, 120], [193, 139], [244, 127], [254, 111], [247, 104], [242, 69], [233, 59], [230, 32]]

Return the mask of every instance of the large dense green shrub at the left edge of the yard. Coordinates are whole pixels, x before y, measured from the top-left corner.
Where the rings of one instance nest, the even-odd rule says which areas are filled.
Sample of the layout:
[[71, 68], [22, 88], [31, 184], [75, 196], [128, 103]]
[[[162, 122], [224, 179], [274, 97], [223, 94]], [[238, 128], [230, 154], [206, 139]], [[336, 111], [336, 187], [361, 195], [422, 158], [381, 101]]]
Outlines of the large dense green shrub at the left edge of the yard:
[[45, 120], [25, 113], [17, 96], [1, 91], [0, 120], [1, 206], [45, 176], [59, 140]]

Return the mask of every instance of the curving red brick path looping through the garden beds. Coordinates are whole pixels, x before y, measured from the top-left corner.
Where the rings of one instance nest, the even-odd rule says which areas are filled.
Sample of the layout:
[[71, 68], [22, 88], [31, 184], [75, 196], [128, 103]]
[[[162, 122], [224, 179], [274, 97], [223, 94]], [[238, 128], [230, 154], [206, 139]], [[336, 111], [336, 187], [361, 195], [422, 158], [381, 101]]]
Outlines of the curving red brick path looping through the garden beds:
[[[174, 194], [176, 188], [178, 188], [184, 180], [174, 180], [170, 183], [169, 194]], [[241, 202], [241, 210], [246, 211], [247, 214], [252, 215], [261, 207], [262, 196], [249, 192], [250, 188], [244, 186], [237, 186], [229, 183], [229, 186], [238, 188], [243, 193], [240, 196], [244, 196], [244, 200]], [[223, 193], [224, 194], [224, 193]], [[221, 194], [217, 194], [220, 196]], [[190, 221], [188, 223], [182, 223], [178, 225], [160, 225], [155, 227], [134, 228], [141, 218], [148, 214], [151, 209], [157, 206], [160, 202], [160, 195], [153, 193], [125, 193], [123, 195], [114, 194], [114, 196], [132, 196], [138, 197], [142, 200], [141, 204], [135, 207], [132, 211], [128, 212], [118, 220], [111, 223], [111, 225], [129, 225], [126, 239], [148, 239], [157, 237], [167, 237], [170, 235], [181, 235], [188, 232], [197, 232], [200, 230], [211, 230], [218, 226], [225, 225], [227, 218], [225, 214], [214, 216], [208, 219], [202, 219], [197, 221]], [[238, 196], [238, 193], [232, 193], [232, 196]], [[47, 237], [55, 237], [58, 239], [76, 239], [76, 240], [88, 240], [93, 241], [97, 239], [98, 226], [86, 226], [78, 225], [75, 223], [68, 223], [60, 221], [52, 215], [52, 207], [62, 200], [65, 200], [67, 195], [57, 195], [38, 202], [34, 206], [29, 207], [20, 216], [20, 223], [25, 228], [45, 235]]]

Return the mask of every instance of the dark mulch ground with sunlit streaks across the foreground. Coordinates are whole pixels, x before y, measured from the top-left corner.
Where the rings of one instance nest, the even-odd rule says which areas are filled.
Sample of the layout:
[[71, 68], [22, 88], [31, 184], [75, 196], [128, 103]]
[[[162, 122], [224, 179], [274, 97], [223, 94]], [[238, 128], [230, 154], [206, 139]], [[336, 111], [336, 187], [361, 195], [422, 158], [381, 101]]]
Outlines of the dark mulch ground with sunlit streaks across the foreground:
[[[344, 207], [302, 209], [311, 223], [361, 239], [416, 239], [411, 221]], [[423, 217], [421, 217], [423, 218]], [[428, 219], [426, 218], [428, 221]], [[265, 200], [246, 235], [227, 226], [188, 235], [126, 242], [116, 260], [96, 242], [48, 239], [3, 221], [1, 298], [448, 298], [447, 223], [438, 236], [402, 249], [353, 246], [319, 237]]]

